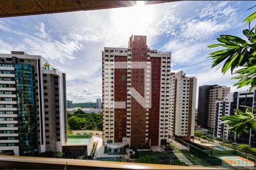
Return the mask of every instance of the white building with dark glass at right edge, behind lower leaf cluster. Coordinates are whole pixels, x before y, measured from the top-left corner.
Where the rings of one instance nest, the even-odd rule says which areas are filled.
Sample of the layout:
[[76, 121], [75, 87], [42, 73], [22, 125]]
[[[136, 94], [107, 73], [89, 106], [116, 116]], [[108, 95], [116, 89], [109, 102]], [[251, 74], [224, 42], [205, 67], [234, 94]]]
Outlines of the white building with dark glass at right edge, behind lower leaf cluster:
[[[222, 116], [231, 116], [234, 115], [234, 111], [236, 109], [240, 109], [241, 111], [245, 112], [244, 107], [256, 108], [256, 88], [254, 88], [251, 92], [250, 91], [239, 91], [239, 92], [232, 92], [229, 93], [228, 96], [225, 97], [224, 100], [217, 100], [216, 101], [216, 120], [214, 129], [214, 135], [219, 138], [225, 139], [232, 139], [234, 141], [240, 143], [249, 144], [249, 134], [243, 133], [240, 138], [237, 138], [234, 133], [229, 133], [228, 125], [221, 124], [220, 122]], [[250, 145], [256, 146], [256, 133], [252, 131], [251, 133], [251, 142]]]

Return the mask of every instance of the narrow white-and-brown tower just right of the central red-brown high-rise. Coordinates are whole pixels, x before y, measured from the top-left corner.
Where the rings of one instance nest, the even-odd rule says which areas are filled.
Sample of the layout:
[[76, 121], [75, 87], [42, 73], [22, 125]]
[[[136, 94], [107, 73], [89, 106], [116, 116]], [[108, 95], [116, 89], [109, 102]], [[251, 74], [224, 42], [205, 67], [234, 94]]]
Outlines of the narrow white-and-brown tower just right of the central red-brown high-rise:
[[194, 135], [196, 113], [196, 81], [183, 71], [171, 74], [170, 135], [190, 139]]

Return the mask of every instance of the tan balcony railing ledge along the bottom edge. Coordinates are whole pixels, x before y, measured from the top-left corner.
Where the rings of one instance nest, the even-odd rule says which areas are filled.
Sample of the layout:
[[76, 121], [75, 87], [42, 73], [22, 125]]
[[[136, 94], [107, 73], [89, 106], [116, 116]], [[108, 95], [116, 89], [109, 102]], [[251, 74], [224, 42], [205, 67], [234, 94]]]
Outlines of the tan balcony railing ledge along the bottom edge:
[[[214, 169], [178, 165], [0, 155], [1, 169]], [[216, 168], [217, 169], [217, 168]]]

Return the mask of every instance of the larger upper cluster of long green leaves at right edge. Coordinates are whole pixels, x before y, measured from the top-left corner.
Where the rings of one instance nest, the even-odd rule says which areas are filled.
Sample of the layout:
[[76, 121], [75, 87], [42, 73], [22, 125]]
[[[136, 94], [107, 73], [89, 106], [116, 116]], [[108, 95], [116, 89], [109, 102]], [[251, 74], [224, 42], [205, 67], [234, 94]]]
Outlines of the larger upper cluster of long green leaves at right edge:
[[[255, 7], [255, 6], [254, 6]], [[247, 40], [232, 35], [220, 35], [217, 38], [220, 44], [209, 45], [209, 48], [223, 46], [225, 49], [210, 53], [209, 57], [213, 58], [215, 67], [224, 62], [222, 73], [225, 74], [229, 69], [233, 74], [234, 69], [236, 76], [232, 79], [238, 79], [234, 86], [241, 88], [251, 85], [251, 88], [256, 87], [256, 33], [255, 27], [250, 29], [250, 23], [256, 18], [256, 12], [248, 16], [243, 22], [249, 23], [249, 29], [243, 29], [243, 35]], [[242, 67], [242, 69], [241, 69]]]

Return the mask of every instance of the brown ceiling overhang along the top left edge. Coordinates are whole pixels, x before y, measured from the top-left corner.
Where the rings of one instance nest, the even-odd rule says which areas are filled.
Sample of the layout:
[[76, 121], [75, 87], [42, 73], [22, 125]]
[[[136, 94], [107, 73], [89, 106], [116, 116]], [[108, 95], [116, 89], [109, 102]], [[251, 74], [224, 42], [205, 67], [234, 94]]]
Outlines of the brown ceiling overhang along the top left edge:
[[[145, 5], [173, 1], [144, 1]], [[100, 10], [106, 8], [129, 7], [136, 1], [102, 1], [102, 0], [1, 0], [0, 18], [11, 16], [52, 14], [57, 12]]]

